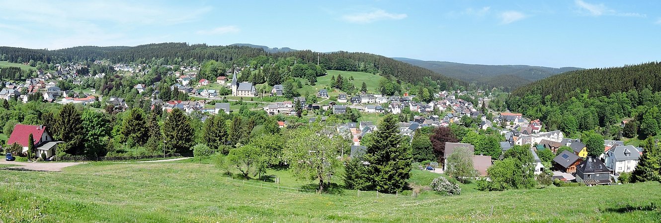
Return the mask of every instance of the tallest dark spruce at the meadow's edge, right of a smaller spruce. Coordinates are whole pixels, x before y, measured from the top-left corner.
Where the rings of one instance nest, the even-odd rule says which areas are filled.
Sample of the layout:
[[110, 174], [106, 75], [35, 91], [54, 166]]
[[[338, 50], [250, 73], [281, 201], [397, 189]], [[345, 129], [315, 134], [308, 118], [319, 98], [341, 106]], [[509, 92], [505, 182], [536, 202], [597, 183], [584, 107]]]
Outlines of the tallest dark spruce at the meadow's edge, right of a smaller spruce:
[[399, 117], [386, 115], [366, 145], [365, 160], [372, 189], [383, 193], [402, 191], [408, 185], [411, 170], [411, 151], [407, 139], [399, 135]]

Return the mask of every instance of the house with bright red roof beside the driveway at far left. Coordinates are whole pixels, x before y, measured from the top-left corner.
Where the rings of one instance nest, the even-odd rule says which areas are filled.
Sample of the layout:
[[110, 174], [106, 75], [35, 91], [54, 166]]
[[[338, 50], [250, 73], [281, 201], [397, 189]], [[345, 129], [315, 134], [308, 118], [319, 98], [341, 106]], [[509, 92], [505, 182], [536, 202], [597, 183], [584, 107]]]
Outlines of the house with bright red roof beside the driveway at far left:
[[[29, 142], [30, 134], [32, 134], [32, 139], [34, 139], [33, 142]], [[50, 133], [46, 131], [44, 125], [17, 124], [14, 127], [14, 131], [11, 132], [11, 136], [7, 139], [7, 144], [14, 143], [23, 147], [22, 152], [24, 154], [28, 151], [28, 143], [33, 143], [36, 151], [32, 151], [32, 154], [35, 154], [36, 157], [41, 157], [41, 154], [44, 154], [46, 158], [50, 158], [55, 155], [57, 144], [62, 142], [54, 141]]]

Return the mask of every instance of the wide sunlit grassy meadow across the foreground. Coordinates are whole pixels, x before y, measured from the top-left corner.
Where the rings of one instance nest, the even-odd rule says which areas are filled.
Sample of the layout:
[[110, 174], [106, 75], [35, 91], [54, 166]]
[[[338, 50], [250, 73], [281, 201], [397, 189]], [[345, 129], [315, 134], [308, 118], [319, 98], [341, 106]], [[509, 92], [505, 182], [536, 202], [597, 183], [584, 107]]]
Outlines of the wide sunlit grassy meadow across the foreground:
[[[295, 193], [234, 183], [210, 164], [91, 163], [63, 172], [0, 170], [3, 222], [655, 222], [657, 182], [418, 197]], [[284, 171], [270, 172], [297, 187]], [[414, 171], [412, 182], [435, 175]], [[256, 181], [255, 181], [256, 182]], [[264, 185], [272, 183], [262, 182]]]

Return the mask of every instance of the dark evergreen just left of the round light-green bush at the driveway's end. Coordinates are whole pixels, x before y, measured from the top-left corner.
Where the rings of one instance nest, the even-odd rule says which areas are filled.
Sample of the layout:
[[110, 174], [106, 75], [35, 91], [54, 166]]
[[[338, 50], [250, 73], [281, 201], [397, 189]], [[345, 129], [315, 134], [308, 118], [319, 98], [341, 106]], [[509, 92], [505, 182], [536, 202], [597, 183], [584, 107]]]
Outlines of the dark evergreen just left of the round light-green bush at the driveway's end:
[[195, 143], [193, 141], [193, 128], [190, 120], [182, 110], [175, 108], [163, 122], [163, 135], [165, 144], [170, 152], [191, 152]]

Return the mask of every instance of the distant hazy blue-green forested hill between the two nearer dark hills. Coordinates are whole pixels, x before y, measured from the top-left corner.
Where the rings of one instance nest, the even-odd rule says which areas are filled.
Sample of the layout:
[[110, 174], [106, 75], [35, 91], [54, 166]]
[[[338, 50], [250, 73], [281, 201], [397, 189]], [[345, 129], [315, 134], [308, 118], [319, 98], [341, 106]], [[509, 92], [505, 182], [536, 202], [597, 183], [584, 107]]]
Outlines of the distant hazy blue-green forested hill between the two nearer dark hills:
[[477, 85], [489, 87], [504, 86], [511, 89], [523, 86], [534, 80], [545, 79], [559, 73], [582, 69], [578, 67], [553, 68], [528, 65], [477, 65], [445, 61], [422, 61], [402, 57], [394, 57], [393, 59], [424, 67], [448, 77], [475, 82]]

